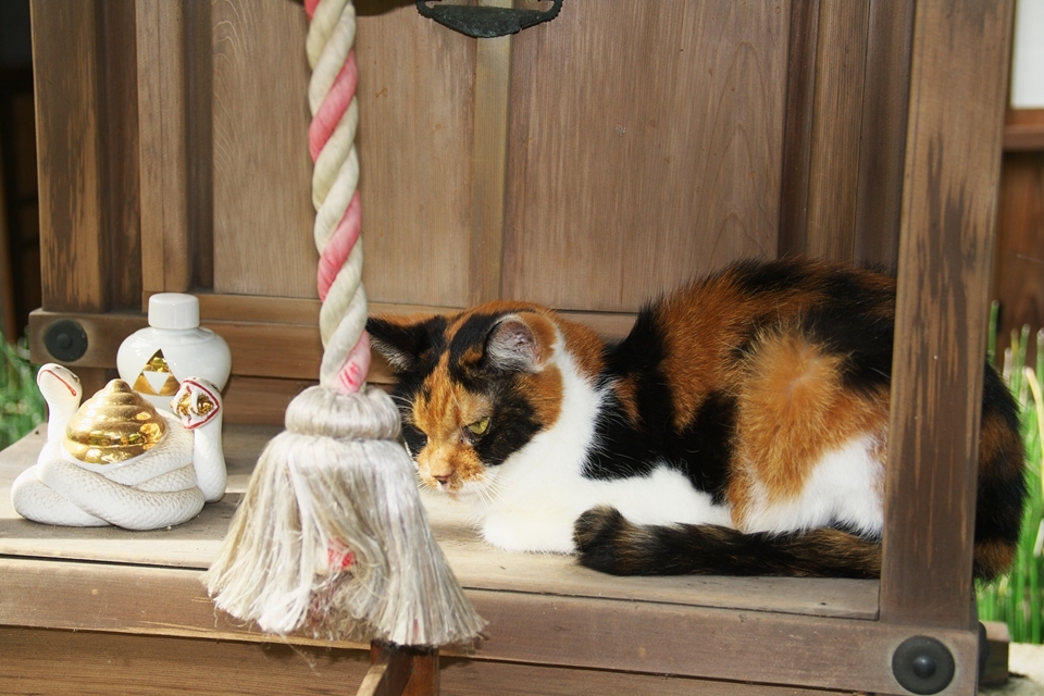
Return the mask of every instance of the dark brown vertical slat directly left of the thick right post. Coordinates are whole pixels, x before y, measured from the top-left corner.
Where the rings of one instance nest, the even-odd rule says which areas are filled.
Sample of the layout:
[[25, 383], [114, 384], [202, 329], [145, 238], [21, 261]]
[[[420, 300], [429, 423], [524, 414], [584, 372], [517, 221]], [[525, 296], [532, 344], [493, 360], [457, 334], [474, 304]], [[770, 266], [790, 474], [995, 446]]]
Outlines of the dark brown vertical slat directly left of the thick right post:
[[909, 104], [913, 3], [871, 0], [856, 195], [857, 262], [896, 262]]

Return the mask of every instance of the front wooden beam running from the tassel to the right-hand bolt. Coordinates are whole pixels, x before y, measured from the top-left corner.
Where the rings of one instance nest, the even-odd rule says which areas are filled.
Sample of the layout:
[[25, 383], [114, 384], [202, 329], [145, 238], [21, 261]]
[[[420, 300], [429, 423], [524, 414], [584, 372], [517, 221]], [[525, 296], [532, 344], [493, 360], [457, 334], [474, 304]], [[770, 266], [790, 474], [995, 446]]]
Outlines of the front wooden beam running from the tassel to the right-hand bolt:
[[[635, 601], [487, 591], [468, 596], [489, 622], [476, 651], [481, 657], [885, 694], [904, 692], [888, 668], [895, 648], [924, 631], [879, 621]], [[937, 629], [931, 635], [957, 661], [947, 693], [973, 693], [977, 634]]]

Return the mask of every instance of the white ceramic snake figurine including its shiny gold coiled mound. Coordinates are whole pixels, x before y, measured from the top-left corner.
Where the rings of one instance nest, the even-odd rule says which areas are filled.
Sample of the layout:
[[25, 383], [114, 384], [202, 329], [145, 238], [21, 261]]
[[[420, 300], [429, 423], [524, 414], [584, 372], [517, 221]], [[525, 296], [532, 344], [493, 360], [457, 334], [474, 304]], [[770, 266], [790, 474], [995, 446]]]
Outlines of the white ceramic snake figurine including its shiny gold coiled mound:
[[53, 363], [40, 368], [37, 385], [50, 417], [36, 465], [11, 487], [22, 517], [154, 530], [224, 495], [221, 395], [206, 380], [182, 382], [171, 401], [178, 415], [156, 410], [122, 380], [80, 406], [79, 378]]

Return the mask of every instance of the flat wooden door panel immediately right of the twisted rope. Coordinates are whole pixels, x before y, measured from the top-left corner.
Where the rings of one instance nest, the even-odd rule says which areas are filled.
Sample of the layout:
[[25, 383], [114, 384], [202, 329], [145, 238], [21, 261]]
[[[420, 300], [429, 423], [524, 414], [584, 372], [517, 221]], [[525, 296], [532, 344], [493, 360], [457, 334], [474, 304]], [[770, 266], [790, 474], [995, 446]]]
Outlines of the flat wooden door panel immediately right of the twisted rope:
[[420, 16], [412, 2], [358, 11], [366, 294], [464, 307], [481, 234], [472, 231], [476, 41]]

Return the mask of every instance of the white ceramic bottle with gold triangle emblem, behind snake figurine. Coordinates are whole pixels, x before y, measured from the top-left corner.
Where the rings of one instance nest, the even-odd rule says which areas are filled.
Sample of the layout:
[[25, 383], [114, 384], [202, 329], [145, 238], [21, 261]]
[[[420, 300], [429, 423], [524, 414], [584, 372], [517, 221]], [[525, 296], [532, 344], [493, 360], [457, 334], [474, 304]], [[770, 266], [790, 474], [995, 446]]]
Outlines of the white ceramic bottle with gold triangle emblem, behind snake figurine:
[[116, 370], [150, 403], [170, 411], [171, 399], [186, 377], [206, 377], [224, 389], [232, 352], [224, 338], [199, 326], [195, 296], [160, 293], [149, 298], [149, 326], [120, 345]]

